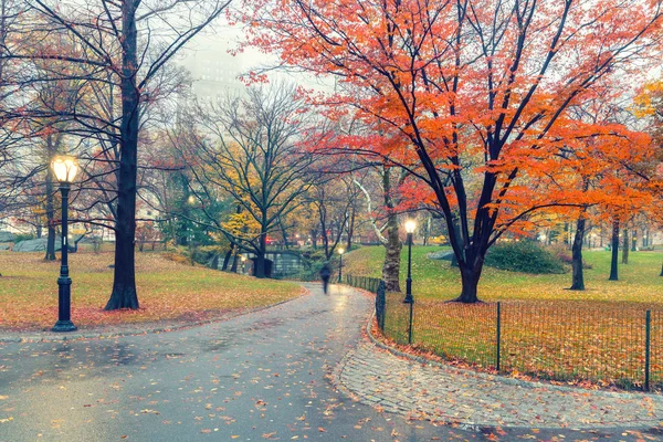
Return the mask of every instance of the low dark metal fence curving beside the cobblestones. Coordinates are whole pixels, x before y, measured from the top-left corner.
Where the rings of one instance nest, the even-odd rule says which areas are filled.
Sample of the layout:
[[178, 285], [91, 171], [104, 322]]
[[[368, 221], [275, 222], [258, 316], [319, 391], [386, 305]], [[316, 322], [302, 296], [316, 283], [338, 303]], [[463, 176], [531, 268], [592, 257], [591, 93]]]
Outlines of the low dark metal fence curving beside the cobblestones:
[[[367, 286], [365, 280], [351, 276], [348, 284]], [[368, 286], [379, 288], [378, 326], [398, 344], [502, 372], [625, 389], [663, 387], [660, 306], [429, 299], [404, 304], [402, 294], [385, 293], [379, 281]]]

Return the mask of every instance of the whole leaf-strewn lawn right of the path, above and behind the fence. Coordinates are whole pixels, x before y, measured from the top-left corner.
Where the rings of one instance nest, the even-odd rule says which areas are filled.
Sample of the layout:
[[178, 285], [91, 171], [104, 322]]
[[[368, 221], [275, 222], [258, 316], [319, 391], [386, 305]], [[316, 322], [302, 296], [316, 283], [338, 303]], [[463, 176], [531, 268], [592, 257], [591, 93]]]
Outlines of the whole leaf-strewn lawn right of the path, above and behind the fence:
[[[645, 311], [652, 311], [651, 381], [663, 385], [663, 253], [632, 252], [620, 265], [620, 281], [608, 281], [610, 253], [585, 252], [587, 290], [570, 286], [570, 273], [533, 275], [485, 267], [480, 283], [484, 304], [446, 303], [460, 294], [457, 269], [427, 257], [436, 246], [412, 250], [415, 299], [412, 344], [446, 359], [494, 369], [497, 305], [501, 314], [501, 369], [562, 381], [640, 387], [644, 380]], [[383, 248], [362, 248], [344, 260], [346, 274], [381, 276]], [[621, 257], [621, 255], [620, 255]], [[401, 290], [407, 250], [401, 256]], [[385, 334], [408, 339], [402, 294], [388, 294]]]

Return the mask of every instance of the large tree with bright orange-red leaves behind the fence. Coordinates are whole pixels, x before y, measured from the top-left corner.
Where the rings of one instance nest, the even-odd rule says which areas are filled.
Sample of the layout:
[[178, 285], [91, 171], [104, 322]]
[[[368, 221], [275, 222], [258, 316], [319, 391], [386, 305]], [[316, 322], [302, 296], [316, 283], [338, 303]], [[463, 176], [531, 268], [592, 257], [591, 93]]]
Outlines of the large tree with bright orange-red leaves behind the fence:
[[346, 104], [400, 137], [361, 148], [428, 185], [448, 224], [464, 303], [477, 301], [486, 252], [511, 225], [545, 207], [577, 204], [532, 204], [518, 190], [569, 139], [594, 135], [569, 123], [569, 107], [600, 80], [635, 77], [657, 50], [663, 22], [661, 0], [244, 4], [250, 12], [238, 19], [250, 24], [249, 44], [340, 80], [334, 96], [316, 96], [334, 104], [332, 116]]

